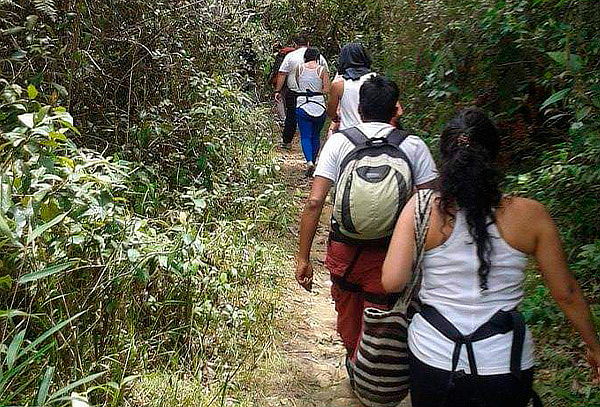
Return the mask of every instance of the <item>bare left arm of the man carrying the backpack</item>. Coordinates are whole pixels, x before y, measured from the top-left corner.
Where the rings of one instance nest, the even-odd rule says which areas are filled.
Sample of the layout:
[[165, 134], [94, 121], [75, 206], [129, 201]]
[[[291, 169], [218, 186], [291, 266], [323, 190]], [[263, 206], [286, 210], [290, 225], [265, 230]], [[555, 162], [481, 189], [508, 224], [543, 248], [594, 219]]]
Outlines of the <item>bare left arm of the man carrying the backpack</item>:
[[317, 232], [325, 198], [331, 185], [331, 180], [319, 176], [315, 177], [310, 196], [306, 201], [300, 220], [300, 242], [298, 255], [296, 256], [296, 280], [308, 291], [312, 288], [313, 277], [313, 269], [310, 263], [310, 249], [315, 238], [315, 233]]

